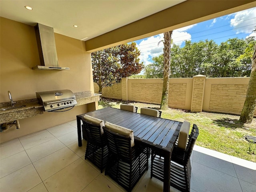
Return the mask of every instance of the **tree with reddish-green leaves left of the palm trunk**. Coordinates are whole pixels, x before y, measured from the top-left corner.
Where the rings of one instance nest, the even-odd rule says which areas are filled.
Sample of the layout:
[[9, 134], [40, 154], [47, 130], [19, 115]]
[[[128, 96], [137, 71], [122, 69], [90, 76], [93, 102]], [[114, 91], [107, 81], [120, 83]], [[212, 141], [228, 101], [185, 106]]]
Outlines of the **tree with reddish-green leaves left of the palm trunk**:
[[122, 44], [92, 53], [93, 81], [102, 88], [119, 83], [122, 78], [136, 75], [143, 69], [136, 43]]

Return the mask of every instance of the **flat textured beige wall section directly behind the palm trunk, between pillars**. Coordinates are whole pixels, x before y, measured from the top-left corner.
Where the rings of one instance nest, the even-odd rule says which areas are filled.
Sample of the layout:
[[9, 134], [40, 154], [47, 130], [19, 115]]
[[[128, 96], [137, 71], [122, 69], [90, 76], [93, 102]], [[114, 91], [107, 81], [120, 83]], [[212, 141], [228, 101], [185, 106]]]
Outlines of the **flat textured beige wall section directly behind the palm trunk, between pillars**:
[[[190, 110], [192, 78], [172, 78], [169, 82], [168, 106]], [[162, 79], [128, 79], [128, 100], [160, 104]]]

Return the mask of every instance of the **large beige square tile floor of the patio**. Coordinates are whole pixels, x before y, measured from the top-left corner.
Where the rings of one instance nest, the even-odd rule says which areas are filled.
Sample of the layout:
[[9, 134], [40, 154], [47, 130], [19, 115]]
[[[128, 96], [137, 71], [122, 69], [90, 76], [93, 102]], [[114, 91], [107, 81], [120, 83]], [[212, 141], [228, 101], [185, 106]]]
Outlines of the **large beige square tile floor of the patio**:
[[[76, 120], [1, 144], [1, 192], [122, 192], [111, 178], [84, 160]], [[256, 192], [256, 163], [194, 146], [192, 192]], [[162, 192], [150, 168], [133, 192]], [[171, 188], [171, 191], [176, 191]]]

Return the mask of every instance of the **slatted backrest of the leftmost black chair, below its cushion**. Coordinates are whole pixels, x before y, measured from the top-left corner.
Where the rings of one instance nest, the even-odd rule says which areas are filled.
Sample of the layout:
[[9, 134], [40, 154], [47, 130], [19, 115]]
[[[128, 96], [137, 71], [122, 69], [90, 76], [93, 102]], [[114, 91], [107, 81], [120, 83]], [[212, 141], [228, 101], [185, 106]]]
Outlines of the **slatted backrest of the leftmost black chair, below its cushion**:
[[100, 125], [93, 124], [85, 119], [82, 119], [82, 122], [88, 141], [98, 146], [106, 144], [106, 138], [101, 132]]

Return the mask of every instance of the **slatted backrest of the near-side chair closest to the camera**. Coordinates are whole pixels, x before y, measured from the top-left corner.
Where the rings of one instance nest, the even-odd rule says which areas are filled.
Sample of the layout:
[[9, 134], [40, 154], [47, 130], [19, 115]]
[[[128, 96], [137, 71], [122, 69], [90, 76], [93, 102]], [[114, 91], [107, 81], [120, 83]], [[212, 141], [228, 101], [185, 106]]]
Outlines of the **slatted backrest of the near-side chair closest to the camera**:
[[108, 150], [111, 155], [117, 156], [122, 160], [130, 160], [132, 147], [131, 137], [124, 136], [103, 127], [107, 138]]

